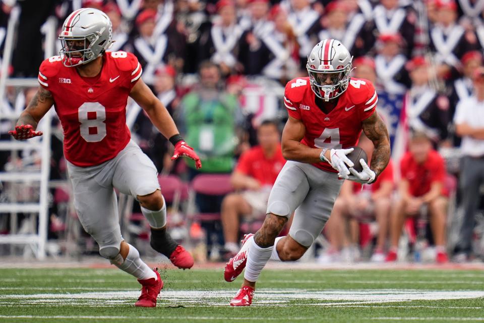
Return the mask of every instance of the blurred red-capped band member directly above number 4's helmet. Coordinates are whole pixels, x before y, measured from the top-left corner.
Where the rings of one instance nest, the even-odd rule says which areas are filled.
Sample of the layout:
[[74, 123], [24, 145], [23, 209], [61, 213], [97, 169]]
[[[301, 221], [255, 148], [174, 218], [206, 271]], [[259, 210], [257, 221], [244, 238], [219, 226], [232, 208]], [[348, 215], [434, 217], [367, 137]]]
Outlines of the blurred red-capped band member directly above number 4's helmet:
[[325, 8], [325, 15], [321, 19], [323, 29], [318, 33], [318, 40], [338, 39], [348, 48], [350, 53], [358, 55], [355, 47], [356, 38], [365, 24], [365, 17], [355, 14], [348, 19], [348, 7], [341, 1], [333, 1]]

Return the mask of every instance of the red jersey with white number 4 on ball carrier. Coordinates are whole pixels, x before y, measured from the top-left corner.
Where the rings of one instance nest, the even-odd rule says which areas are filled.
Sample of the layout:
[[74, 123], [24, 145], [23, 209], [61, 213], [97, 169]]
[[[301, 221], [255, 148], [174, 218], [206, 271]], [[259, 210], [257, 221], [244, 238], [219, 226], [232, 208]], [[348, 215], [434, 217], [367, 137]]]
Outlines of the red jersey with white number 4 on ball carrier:
[[[306, 134], [301, 143], [311, 148], [348, 148], [358, 143], [361, 122], [370, 117], [378, 101], [373, 84], [351, 78], [348, 88], [338, 98], [334, 109], [325, 114], [315, 103], [309, 77], [289, 81], [284, 90], [284, 104], [289, 116], [302, 120]], [[326, 161], [313, 166], [337, 173]]]

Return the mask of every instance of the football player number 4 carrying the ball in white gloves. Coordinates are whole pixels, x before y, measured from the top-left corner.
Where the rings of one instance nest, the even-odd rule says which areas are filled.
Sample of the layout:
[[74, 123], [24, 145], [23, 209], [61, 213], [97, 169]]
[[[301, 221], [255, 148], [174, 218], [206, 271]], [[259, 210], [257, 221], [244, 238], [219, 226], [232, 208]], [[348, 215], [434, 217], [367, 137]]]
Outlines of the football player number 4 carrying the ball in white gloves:
[[[225, 267], [226, 281], [244, 269], [244, 282], [232, 306], [252, 303], [256, 281], [269, 259], [299, 259], [328, 221], [342, 180], [373, 183], [390, 159], [390, 141], [376, 113], [373, 84], [350, 78], [348, 50], [334, 39], [314, 46], [308, 57], [309, 77], [296, 78], [285, 87], [289, 119], [282, 133], [282, 153], [288, 160], [272, 188], [267, 217], [255, 235], [248, 235], [238, 254]], [[371, 168], [360, 159], [358, 173], [346, 157], [361, 130], [373, 141]], [[295, 210], [289, 235], [276, 238]]]

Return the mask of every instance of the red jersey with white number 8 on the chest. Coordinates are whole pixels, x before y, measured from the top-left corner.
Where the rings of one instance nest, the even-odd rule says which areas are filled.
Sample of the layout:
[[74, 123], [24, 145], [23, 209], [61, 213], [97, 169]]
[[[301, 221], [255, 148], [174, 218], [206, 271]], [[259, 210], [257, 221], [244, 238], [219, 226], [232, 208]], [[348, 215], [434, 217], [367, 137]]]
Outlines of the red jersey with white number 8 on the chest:
[[136, 56], [106, 52], [101, 72], [81, 77], [60, 56], [42, 62], [40, 85], [52, 93], [64, 130], [64, 155], [72, 164], [89, 167], [114, 158], [131, 138], [126, 125], [128, 95], [141, 77]]

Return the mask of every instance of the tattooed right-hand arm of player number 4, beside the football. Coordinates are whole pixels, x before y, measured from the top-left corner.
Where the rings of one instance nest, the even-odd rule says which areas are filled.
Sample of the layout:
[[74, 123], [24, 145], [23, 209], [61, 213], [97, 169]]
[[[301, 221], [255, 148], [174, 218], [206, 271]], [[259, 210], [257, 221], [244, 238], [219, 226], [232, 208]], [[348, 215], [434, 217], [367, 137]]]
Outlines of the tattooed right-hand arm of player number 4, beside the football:
[[387, 127], [382, 118], [374, 112], [373, 115], [362, 121], [361, 128], [375, 146], [370, 168], [375, 172], [376, 179], [387, 167], [390, 160], [390, 138]]

